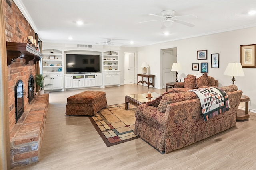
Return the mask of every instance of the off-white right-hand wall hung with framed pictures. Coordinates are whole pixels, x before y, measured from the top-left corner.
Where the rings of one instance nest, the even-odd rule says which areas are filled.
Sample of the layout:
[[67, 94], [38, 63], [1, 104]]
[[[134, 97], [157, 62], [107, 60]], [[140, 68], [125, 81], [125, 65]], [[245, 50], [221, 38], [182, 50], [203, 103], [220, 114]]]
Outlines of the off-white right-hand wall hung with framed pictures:
[[[248, 44], [256, 44], [256, 27], [138, 47], [137, 67], [147, 61], [150, 65], [149, 73], [156, 75], [155, 88], [160, 88], [160, 49], [177, 47], [177, 62], [184, 68], [179, 71], [178, 80], [183, 80], [187, 74], [202, 74], [200, 70], [192, 71], [192, 63], [208, 62], [208, 75], [218, 80], [218, 86], [228, 86], [232, 84], [232, 77], [223, 75], [224, 70], [230, 62], [240, 63], [240, 45]], [[208, 50], [208, 59], [197, 60], [198, 50]], [[219, 68], [211, 68], [211, 54], [214, 53], [219, 53]], [[243, 70], [245, 77], [235, 77], [235, 84], [244, 95], [250, 97], [249, 107], [256, 113], [256, 68]]]

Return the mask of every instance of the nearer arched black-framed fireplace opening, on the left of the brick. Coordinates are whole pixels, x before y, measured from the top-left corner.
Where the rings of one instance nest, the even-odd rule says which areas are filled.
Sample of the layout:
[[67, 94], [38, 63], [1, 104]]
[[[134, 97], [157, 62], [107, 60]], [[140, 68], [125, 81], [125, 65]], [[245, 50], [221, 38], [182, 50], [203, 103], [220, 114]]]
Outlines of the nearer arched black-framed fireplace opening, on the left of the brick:
[[23, 82], [18, 80], [15, 85], [15, 123], [20, 119], [20, 116], [24, 112], [23, 103]]

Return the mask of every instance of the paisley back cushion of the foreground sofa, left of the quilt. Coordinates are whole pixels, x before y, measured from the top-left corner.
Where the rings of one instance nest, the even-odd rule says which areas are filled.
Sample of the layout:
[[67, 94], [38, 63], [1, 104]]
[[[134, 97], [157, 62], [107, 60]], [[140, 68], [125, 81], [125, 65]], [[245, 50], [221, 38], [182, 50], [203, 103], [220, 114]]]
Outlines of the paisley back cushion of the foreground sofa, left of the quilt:
[[194, 92], [181, 92], [181, 93], [173, 93], [173, 94], [165, 94], [157, 109], [158, 111], [165, 113], [166, 107], [170, 103], [175, 103], [175, 102], [181, 102], [185, 100], [190, 100], [190, 99], [195, 99], [198, 98], [198, 96]]

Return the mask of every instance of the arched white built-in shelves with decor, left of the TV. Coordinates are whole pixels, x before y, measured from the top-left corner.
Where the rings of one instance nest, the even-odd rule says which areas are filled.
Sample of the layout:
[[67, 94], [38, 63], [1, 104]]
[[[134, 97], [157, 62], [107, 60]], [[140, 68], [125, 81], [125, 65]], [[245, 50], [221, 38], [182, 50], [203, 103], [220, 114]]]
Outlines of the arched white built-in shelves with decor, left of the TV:
[[56, 49], [43, 50], [43, 72], [63, 73], [63, 51]]

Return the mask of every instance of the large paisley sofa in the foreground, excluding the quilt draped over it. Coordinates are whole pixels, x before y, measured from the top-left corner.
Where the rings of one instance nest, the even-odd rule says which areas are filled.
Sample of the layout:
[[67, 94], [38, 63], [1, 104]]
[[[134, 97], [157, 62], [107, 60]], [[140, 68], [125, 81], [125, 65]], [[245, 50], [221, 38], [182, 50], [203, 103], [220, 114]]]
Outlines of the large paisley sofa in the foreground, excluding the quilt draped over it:
[[228, 111], [204, 121], [194, 92], [170, 91], [138, 106], [134, 133], [160, 152], [168, 153], [235, 126], [242, 91], [236, 85], [221, 89], [228, 95]]

